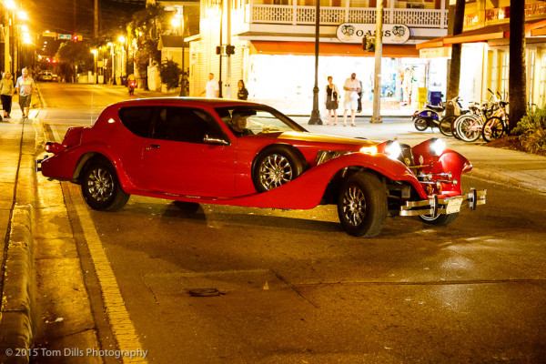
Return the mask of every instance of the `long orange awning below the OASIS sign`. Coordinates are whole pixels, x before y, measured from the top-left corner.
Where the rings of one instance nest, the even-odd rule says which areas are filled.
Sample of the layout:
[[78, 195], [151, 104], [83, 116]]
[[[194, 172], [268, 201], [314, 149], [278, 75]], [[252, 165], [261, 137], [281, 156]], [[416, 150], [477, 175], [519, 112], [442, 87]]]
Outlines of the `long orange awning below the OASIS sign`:
[[[267, 42], [251, 41], [252, 54], [315, 56], [314, 42]], [[320, 43], [319, 56], [374, 56], [360, 45], [349, 43]], [[383, 45], [384, 57], [419, 57], [415, 45]]]

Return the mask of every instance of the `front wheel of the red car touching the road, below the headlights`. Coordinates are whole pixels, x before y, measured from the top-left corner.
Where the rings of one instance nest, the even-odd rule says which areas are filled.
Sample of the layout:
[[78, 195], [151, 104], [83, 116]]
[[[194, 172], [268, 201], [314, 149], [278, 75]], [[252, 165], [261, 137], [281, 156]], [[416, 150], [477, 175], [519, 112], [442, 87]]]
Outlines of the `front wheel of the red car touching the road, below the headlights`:
[[343, 181], [339, 188], [338, 216], [349, 235], [378, 236], [387, 213], [387, 192], [377, 176], [359, 172]]

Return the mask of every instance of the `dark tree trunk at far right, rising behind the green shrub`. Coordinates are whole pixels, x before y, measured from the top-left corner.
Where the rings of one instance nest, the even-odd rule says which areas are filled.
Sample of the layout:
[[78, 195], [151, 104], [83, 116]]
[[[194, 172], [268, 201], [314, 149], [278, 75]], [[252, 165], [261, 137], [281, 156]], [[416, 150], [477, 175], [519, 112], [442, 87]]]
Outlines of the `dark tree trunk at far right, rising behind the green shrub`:
[[510, 75], [508, 98], [510, 102], [510, 125], [518, 125], [527, 114], [527, 79], [525, 76], [525, 2], [511, 0], [510, 14]]

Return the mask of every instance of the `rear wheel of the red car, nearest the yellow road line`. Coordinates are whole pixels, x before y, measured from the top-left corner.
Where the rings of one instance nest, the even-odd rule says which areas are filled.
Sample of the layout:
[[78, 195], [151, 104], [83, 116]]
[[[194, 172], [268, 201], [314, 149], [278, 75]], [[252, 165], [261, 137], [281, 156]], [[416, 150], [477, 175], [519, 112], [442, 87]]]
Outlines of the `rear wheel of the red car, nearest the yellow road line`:
[[121, 188], [116, 170], [105, 158], [94, 158], [87, 163], [80, 184], [87, 205], [99, 211], [116, 211], [131, 196]]

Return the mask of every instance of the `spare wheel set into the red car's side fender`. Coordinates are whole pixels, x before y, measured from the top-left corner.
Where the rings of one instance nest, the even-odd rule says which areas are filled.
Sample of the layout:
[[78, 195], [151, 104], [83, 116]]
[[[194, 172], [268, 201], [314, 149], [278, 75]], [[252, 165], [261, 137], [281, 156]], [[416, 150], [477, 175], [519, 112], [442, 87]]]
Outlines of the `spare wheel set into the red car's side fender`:
[[268, 147], [258, 153], [252, 167], [252, 181], [258, 192], [281, 187], [301, 175], [302, 157], [291, 147]]

